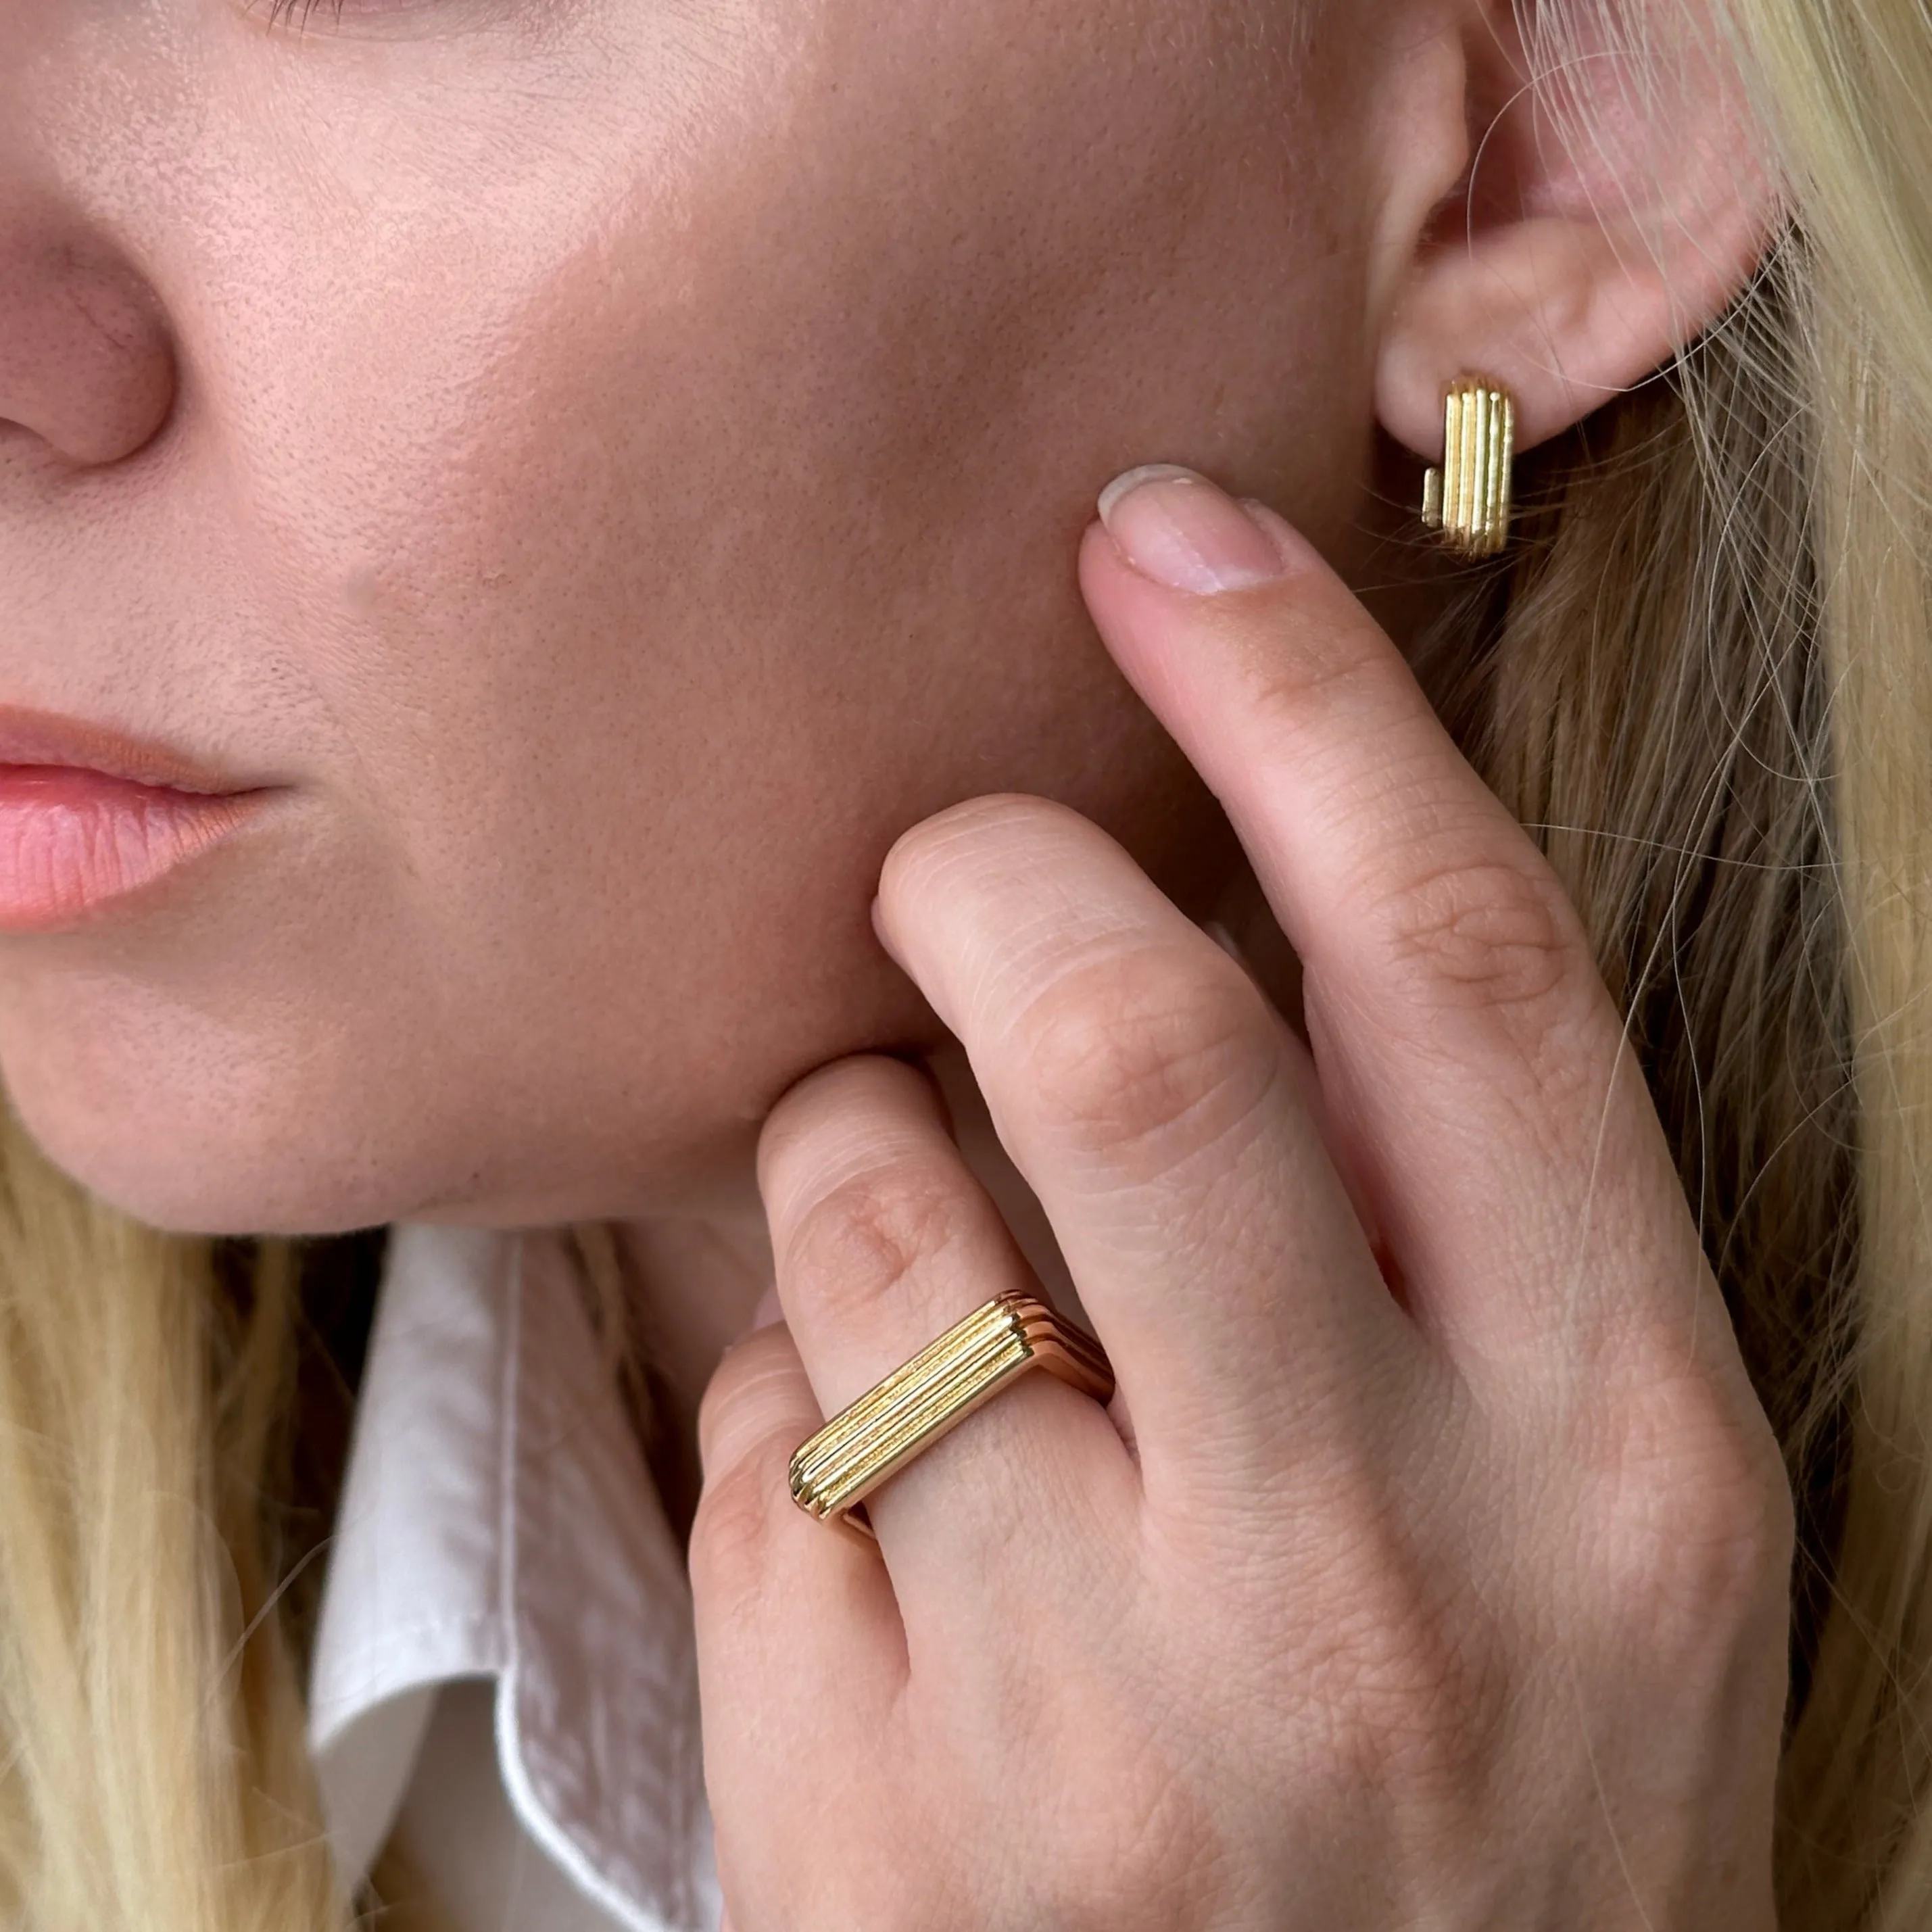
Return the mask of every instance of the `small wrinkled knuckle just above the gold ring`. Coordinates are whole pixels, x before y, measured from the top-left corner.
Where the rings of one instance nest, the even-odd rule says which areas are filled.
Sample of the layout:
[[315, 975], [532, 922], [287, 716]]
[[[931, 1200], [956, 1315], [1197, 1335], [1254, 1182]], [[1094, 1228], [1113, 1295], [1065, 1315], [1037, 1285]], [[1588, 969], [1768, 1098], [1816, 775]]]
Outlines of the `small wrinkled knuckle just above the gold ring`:
[[972, 1204], [918, 1159], [848, 1175], [798, 1217], [784, 1248], [792, 1287], [827, 1314], [866, 1316], [970, 1229]]

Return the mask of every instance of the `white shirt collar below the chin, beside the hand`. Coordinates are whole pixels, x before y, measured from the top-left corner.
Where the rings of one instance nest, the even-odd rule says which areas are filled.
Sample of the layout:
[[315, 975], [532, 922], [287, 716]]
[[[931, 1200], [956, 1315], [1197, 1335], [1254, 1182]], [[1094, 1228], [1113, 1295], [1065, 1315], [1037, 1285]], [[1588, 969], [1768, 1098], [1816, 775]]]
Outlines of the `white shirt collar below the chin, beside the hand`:
[[452, 1932], [715, 1932], [690, 1586], [554, 1235], [404, 1225], [309, 1679], [354, 1886]]

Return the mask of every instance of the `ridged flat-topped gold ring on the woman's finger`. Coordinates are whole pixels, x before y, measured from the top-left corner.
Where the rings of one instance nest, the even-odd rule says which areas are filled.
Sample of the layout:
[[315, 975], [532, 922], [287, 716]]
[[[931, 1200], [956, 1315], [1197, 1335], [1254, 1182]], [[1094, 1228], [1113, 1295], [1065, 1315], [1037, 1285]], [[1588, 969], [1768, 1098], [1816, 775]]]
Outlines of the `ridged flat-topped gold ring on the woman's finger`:
[[854, 1505], [1030, 1368], [1097, 1403], [1113, 1395], [1113, 1368], [1092, 1335], [1032, 1294], [995, 1294], [798, 1445], [792, 1501], [869, 1532]]

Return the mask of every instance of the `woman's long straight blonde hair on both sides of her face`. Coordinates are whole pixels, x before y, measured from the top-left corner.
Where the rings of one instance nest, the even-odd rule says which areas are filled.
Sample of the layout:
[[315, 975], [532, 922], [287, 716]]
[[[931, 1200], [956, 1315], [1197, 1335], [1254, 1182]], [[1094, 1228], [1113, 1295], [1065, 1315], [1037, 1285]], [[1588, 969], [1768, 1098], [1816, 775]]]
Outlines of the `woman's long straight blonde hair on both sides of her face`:
[[[1569, 12], [1528, 23], [1551, 71]], [[1932, 1903], [1932, 25], [1708, 19], [1789, 230], [1526, 466], [1524, 541], [1424, 670], [1584, 914], [1787, 1445], [1783, 1924], [1895, 1928]], [[4, 1130], [8, 1924], [354, 1917], [278, 1605], [296, 1264], [129, 1227]]]

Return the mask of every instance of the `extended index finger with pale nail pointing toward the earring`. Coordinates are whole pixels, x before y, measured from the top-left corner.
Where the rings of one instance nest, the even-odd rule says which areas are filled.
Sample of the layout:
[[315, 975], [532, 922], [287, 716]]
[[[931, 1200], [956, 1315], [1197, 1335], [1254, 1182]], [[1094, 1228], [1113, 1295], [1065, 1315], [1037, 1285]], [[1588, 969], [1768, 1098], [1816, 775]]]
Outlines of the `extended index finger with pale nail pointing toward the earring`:
[[1615, 1273], [1667, 1300], [1619, 1287], [1602, 1314], [1677, 1327], [1704, 1293], [1696, 1231], [1549, 864], [1306, 539], [1144, 475], [1103, 498], [1082, 587], [1302, 958], [1321, 1086], [1378, 1169], [1418, 1314], [1517, 1352], [1575, 1323], [1586, 1254], [1662, 1242]]

